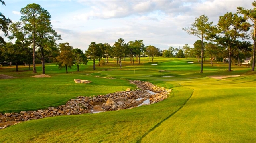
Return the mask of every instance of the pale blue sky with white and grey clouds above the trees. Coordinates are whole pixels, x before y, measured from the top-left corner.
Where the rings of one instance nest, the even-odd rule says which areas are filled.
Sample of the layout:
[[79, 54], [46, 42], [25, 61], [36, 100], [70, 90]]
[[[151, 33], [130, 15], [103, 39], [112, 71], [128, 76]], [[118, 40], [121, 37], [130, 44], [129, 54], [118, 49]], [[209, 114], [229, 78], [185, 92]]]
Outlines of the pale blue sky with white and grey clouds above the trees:
[[[197, 37], [182, 28], [191, 26], [200, 15], [217, 25], [219, 16], [236, 12], [238, 6], [251, 9], [253, 0], [4, 0], [0, 12], [13, 22], [20, 9], [36, 3], [47, 10], [53, 29], [61, 34], [58, 43], [69, 42], [85, 51], [91, 42], [113, 45], [143, 40], [161, 50], [170, 46], [193, 46]], [[1, 34], [2, 35], [2, 34]], [[6, 39], [8, 41], [8, 39]]]

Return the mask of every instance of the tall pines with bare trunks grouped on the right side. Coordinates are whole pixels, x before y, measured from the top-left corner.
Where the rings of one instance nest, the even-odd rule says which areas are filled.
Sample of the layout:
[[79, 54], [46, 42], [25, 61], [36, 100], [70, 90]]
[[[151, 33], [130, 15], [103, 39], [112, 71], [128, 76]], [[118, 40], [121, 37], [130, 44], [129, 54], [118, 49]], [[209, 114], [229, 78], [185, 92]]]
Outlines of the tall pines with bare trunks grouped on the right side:
[[[185, 32], [190, 35], [197, 36], [200, 39], [201, 45], [196, 46], [201, 47], [201, 71], [203, 72], [203, 55], [205, 52], [204, 40], [209, 40], [211, 43], [208, 44], [208, 47], [219, 48], [225, 50], [228, 54], [228, 71], [231, 71], [231, 58], [235, 56], [236, 53], [241, 51], [249, 50], [250, 43], [245, 41], [240, 41], [240, 39], [249, 39], [252, 38], [254, 41], [253, 44], [253, 63], [252, 71], [254, 71], [255, 66], [255, 30], [256, 30], [256, 2], [252, 2], [253, 9], [246, 9], [242, 7], [237, 8], [237, 13], [243, 14], [244, 17], [238, 16], [236, 13], [232, 14], [231, 12], [226, 13], [224, 16], [219, 17], [219, 22], [216, 26], [212, 25], [213, 22], [208, 22], [208, 17], [205, 15], [199, 16], [195, 19], [195, 22], [191, 24], [188, 28], [182, 28]], [[247, 22], [251, 20], [254, 24]], [[250, 27], [254, 27], [252, 34], [249, 34], [248, 31]], [[207, 50], [206, 50], [207, 51]], [[197, 51], [199, 52], [199, 51]], [[208, 50], [209, 52], [209, 50]], [[225, 53], [224, 51], [222, 51]], [[185, 52], [187, 53], [187, 51]], [[210, 52], [211, 53], [211, 52]], [[198, 54], [198, 53], [197, 53]], [[199, 56], [198, 56], [199, 57]], [[239, 56], [238, 56], [239, 58]], [[239, 59], [238, 59], [239, 61]]]

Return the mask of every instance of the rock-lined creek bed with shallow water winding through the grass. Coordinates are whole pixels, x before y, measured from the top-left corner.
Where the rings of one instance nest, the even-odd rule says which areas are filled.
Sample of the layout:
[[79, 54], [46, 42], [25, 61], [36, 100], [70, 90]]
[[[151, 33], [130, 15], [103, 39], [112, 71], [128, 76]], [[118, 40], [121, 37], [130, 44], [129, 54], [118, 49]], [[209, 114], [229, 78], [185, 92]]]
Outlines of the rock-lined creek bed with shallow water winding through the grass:
[[[69, 100], [65, 105], [48, 107], [48, 109], [37, 111], [0, 113], [0, 129], [4, 129], [21, 121], [29, 121], [57, 115], [75, 115], [130, 109], [140, 105], [148, 105], [163, 101], [171, 92], [171, 89], [157, 87], [150, 82], [130, 80], [130, 83], [137, 85], [140, 89], [132, 91], [127, 89], [126, 91], [118, 91], [106, 95], [93, 95], [92, 97], [78, 96], [76, 99]], [[149, 103], [143, 103], [144, 101], [149, 101]]]

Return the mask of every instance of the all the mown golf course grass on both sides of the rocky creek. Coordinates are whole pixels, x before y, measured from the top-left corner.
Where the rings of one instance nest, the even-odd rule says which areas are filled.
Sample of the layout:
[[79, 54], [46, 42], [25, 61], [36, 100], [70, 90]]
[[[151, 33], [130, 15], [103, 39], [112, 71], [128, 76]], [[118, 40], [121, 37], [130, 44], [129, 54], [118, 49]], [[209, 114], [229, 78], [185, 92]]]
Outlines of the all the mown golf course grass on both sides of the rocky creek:
[[[11, 92], [6, 93], [8, 96], [5, 97], [2, 97], [1, 92], [0, 111], [8, 111], [3, 110], [5, 107], [15, 107], [17, 110], [27, 107], [8, 105], [12, 102], [9, 97], [25, 101], [20, 98], [22, 95], [19, 95], [19, 91], [27, 94], [27, 104], [40, 104], [30, 107], [32, 109], [61, 105], [80, 94], [96, 95], [134, 88], [128, 81], [120, 78], [150, 81], [155, 85], [173, 89], [166, 100], [148, 106], [98, 114], [49, 117], [20, 123], [0, 130], [0, 142], [256, 141], [256, 73], [251, 72], [250, 68], [232, 65], [234, 71], [228, 72], [228, 64], [214, 62], [211, 66], [207, 61], [204, 62], [203, 73], [199, 73], [201, 65], [195, 58], [157, 57], [154, 64], [158, 65], [151, 65], [148, 58], [145, 62], [143, 58], [140, 60], [141, 65], [122, 61], [122, 69], [115, 61], [110, 61], [103, 67], [97, 66], [96, 70], [91, 70], [90, 61], [88, 65], [81, 66], [80, 72], [76, 72], [73, 67], [69, 71], [71, 74], [65, 74], [64, 69], [58, 70], [55, 64], [47, 64], [46, 73], [53, 78], [44, 79], [29, 77], [35, 75], [31, 71], [24, 70], [17, 74], [10, 68], [0, 69], [0, 74], [24, 75], [20, 79], [0, 79], [1, 87], [5, 86]], [[195, 63], [189, 64], [188, 61]], [[96, 78], [85, 74], [118, 79]], [[207, 77], [211, 75], [243, 76], [219, 80]], [[73, 81], [84, 77], [93, 81], [93, 84], [78, 85]], [[31, 90], [27, 90], [28, 88]], [[45, 92], [40, 94], [41, 91]], [[36, 97], [37, 94], [33, 93], [40, 96]], [[48, 101], [43, 101], [44, 99]]]

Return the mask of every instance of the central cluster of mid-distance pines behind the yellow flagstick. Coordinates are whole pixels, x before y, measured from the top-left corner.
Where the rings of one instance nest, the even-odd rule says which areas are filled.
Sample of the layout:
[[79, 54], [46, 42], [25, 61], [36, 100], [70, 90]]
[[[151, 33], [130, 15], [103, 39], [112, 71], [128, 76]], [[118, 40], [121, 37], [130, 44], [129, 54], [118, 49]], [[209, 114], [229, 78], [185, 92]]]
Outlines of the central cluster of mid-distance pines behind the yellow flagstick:
[[100, 59], [105, 58], [105, 63], [108, 64], [109, 58], [116, 58], [116, 63], [122, 68], [122, 58], [125, 60], [125, 57], [130, 57], [130, 61], [134, 64], [134, 57], [136, 57], [136, 62], [140, 64], [140, 56], [143, 55], [145, 60], [145, 55], [147, 54], [153, 62], [154, 56], [158, 56], [160, 50], [152, 45], [145, 46], [143, 40], [126, 43], [124, 39], [119, 38], [113, 46], [108, 43], [91, 42], [85, 54], [93, 60], [93, 69], [95, 70], [95, 60], [97, 59], [100, 62]]

